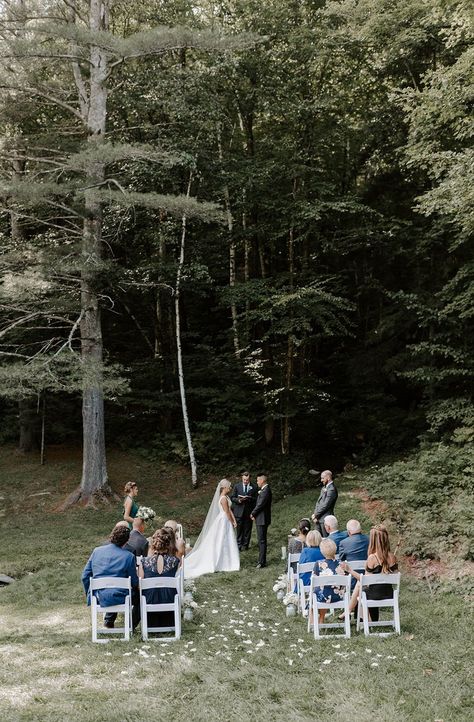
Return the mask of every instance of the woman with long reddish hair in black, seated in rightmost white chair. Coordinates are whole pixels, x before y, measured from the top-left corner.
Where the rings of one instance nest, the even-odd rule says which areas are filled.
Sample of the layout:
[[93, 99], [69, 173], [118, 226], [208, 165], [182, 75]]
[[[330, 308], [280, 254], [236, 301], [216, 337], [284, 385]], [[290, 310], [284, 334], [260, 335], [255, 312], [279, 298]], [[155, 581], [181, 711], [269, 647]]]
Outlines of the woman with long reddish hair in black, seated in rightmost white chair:
[[[382, 524], [378, 524], [370, 530], [368, 554], [364, 574], [395, 574], [395, 572], [398, 571], [396, 557], [390, 551], [388, 531]], [[349, 565], [344, 565], [344, 567], [355, 579], [360, 579], [360, 574], [353, 571]], [[357, 606], [359, 592], [360, 584], [357, 583], [351, 597], [349, 607], [351, 612]], [[393, 588], [391, 584], [374, 584], [367, 587], [366, 594], [367, 599], [392, 599]], [[371, 607], [369, 615], [373, 622], [377, 622], [379, 619], [379, 608]]]

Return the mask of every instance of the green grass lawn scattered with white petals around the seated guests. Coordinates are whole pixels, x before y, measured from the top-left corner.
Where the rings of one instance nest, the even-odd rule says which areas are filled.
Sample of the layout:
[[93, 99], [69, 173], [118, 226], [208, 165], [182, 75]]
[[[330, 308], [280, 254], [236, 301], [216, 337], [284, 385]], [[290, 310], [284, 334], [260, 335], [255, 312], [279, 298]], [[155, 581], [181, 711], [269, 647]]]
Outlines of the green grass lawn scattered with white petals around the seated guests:
[[[185, 469], [120, 452], [109, 465], [117, 491], [136, 479], [139, 500], [195, 537], [217, 477], [193, 491]], [[316, 490], [274, 504], [267, 569], [254, 568], [253, 538], [240, 573], [197, 580], [198, 614], [179, 642], [144, 644], [136, 634], [93, 645], [80, 574], [119, 516], [118, 505], [54, 510], [79, 469], [71, 451], [50, 452], [45, 467], [1, 452], [0, 572], [17, 578], [0, 589], [2, 721], [473, 719], [472, 617], [449, 587], [430, 591], [404, 575], [401, 637], [316, 642], [302, 618], [286, 618], [272, 592], [280, 547], [312, 511]], [[368, 528], [351, 494], [362, 484], [339, 479], [341, 526], [355, 516]]]

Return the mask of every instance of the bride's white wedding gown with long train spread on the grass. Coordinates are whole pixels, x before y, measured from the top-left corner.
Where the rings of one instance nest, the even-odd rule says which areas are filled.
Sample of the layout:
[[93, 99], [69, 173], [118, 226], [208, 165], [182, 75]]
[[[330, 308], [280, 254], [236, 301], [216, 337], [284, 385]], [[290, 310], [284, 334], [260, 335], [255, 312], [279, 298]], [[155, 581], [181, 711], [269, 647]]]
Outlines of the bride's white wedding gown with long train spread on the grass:
[[196, 546], [197, 548], [184, 559], [185, 579], [193, 579], [213, 572], [239, 571], [240, 555], [234, 527], [220, 501], [218, 515]]

